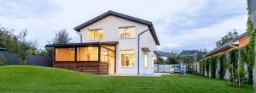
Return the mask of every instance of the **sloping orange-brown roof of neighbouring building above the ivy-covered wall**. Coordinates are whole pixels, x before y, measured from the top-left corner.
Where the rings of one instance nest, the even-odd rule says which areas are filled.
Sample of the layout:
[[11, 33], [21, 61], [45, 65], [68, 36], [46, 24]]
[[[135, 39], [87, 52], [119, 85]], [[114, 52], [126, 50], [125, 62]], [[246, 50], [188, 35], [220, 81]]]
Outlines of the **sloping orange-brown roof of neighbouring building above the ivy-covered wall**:
[[207, 56], [211, 56], [211, 55], [213, 55], [213, 54], [216, 53], [216, 52], [224, 52], [224, 50], [231, 48], [231, 47], [230, 47], [230, 44], [232, 44], [232, 43], [235, 42], [235, 41], [238, 41], [239, 39], [241, 39], [242, 37], [245, 37], [245, 36], [247, 36], [247, 32], [242, 33], [242, 34], [241, 34], [240, 36], [238, 36], [237, 38], [234, 38], [234, 39], [232, 39], [232, 40], [230, 40], [230, 41], [228, 41], [228, 42], [225, 42], [225, 43], [224, 43], [223, 45], [221, 45], [220, 47], [214, 48], [212, 51], [207, 52], [207, 54], [206, 54], [205, 56], [206, 56], [206, 57], [207, 57]]

